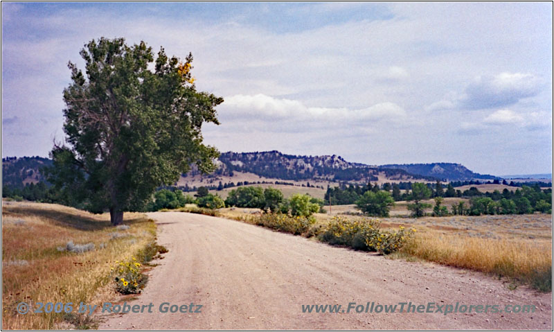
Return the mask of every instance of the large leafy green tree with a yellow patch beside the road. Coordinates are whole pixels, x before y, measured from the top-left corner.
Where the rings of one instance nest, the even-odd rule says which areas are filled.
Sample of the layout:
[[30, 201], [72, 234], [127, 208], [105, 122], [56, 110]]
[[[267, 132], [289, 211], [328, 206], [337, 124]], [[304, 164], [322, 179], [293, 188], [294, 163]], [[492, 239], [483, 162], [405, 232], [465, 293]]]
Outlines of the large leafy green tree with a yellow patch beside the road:
[[[202, 124], [216, 123], [223, 102], [196, 91], [184, 62], [144, 42], [92, 40], [80, 52], [85, 71], [69, 62], [64, 89], [65, 145], [51, 151], [48, 181], [93, 213], [109, 209], [111, 222], [123, 211], [141, 211], [158, 186], [175, 183], [191, 164], [215, 170], [217, 150], [202, 143]], [[152, 71], [153, 68], [154, 70]]]

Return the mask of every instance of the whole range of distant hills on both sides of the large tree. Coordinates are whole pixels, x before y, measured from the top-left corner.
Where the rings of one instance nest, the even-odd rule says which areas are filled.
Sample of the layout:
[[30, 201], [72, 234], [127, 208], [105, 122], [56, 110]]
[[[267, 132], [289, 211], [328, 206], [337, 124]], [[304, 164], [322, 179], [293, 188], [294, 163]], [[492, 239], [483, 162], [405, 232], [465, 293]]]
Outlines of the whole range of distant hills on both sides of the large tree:
[[[474, 173], [461, 164], [391, 164], [370, 166], [352, 163], [337, 155], [298, 156], [279, 151], [224, 152], [216, 161], [217, 170], [202, 175], [193, 167], [181, 175], [178, 186], [193, 189], [195, 186], [224, 188], [244, 183], [294, 184], [296, 186], [337, 185], [342, 182], [434, 182], [464, 180], [496, 180], [499, 177]], [[51, 159], [42, 157], [8, 157], [2, 159], [2, 184], [24, 186], [43, 181], [40, 168], [50, 166]]]

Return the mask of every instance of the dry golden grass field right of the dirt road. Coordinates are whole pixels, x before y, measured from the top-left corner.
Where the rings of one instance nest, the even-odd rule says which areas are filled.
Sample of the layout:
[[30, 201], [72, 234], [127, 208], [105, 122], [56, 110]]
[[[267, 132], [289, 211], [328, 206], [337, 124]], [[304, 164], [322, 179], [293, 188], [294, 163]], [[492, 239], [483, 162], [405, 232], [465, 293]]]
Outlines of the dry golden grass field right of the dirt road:
[[415, 226], [406, 254], [512, 280], [549, 283], [552, 269], [552, 216], [448, 216], [384, 218], [382, 225]]

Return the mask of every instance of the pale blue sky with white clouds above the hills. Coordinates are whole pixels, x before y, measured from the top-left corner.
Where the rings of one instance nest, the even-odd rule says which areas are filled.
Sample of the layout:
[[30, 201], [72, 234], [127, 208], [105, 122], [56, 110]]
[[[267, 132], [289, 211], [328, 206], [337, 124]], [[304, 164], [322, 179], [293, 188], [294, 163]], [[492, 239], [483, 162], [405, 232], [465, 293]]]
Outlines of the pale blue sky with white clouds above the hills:
[[185, 58], [220, 151], [551, 173], [553, 3], [1, 4], [2, 157], [64, 139], [67, 63], [100, 37]]

